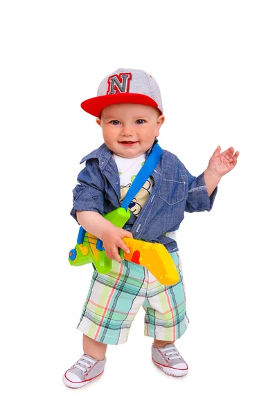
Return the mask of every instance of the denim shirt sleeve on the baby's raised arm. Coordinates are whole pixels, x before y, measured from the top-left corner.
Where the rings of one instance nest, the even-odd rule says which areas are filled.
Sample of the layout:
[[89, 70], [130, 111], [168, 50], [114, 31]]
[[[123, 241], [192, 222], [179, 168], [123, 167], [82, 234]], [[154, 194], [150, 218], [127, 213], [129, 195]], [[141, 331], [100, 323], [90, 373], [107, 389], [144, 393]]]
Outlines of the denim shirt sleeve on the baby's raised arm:
[[203, 212], [204, 210], [210, 211], [213, 208], [213, 201], [215, 200], [215, 195], [217, 194], [217, 187], [211, 194], [208, 196], [206, 190], [206, 184], [204, 181], [204, 173], [200, 176], [192, 176], [188, 170], [188, 199], [186, 201], [186, 212]]

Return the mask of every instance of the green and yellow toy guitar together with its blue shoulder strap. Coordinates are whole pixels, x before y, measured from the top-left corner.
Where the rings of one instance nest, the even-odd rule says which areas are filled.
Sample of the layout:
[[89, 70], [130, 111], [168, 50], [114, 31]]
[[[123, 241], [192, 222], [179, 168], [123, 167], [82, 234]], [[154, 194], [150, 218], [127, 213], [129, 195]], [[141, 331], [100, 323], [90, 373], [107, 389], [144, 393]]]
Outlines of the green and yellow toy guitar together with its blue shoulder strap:
[[[158, 144], [154, 145], [152, 153], [143, 164], [143, 167], [141, 167], [139, 174], [136, 175], [121, 207], [104, 214], [105, 219], [118, 226], [118, 228], [123, 228], [131, 215], [128, 210], [129, 203], [139, 192], [143, 183], [152, 174], [161, 153], [161, 147]], [[145, 266], [161, 284], [173, 285], [179, 281], [179, 275], [174, 261], [170, 257], [168, 250], [161, 243], [150, 243], [132, 238], [123, 238], [123, 241], [130, 252], [127, 254], [120, 249], [119, 253], [121, 258]], [[69, 252], [69, 263], [80, 266], [91, 264], [91, 262], [93, 262], [98, 273], [107, 274], [111, 270], [111, 259], [107, 257], [105, 249], [102, 246], [102, 241], [86, 232], [81, 226], [77, 245]]]

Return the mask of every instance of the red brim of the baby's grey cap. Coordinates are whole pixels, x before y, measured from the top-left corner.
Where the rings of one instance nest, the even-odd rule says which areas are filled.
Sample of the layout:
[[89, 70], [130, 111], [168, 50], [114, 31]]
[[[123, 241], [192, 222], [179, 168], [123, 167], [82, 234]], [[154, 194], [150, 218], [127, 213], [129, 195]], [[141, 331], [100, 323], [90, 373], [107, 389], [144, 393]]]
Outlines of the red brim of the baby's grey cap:
[[158, 108], [156, 101], [141, 93], [115, 93], [113, 95], [100, 95], [82, 102], [81, 107], [91, 116], [100, 117], [102, 109], [112, 104], [142, 104]]

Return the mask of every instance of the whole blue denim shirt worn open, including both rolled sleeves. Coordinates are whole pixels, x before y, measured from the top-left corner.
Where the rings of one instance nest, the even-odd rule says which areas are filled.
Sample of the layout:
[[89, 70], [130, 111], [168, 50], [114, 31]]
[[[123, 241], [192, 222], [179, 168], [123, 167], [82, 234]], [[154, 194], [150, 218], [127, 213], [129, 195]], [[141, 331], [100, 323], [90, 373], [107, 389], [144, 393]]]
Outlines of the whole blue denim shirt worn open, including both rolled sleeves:
[[[148, 150], [152, 152], [157, 138]], [[71, 215], [77, 221], [76, 210], [91, 210], [100, 214], [120, 207], [120, 180], [112, 152], [102, 144], [82, 158], [86, 162], [78, 174], [78, 185], [73, 189]], [[151, 175], [154, 188], [138, 218], [131, 216], [124, 225], [134, 239], [162, 243], [169, 252], [178, 250], [177, 242], [165, 235], [173, 232], [184, 219], [184, 212], [211, 210], [217, 187], [208, 196], [204, 173], [192, 176], [183, 163], [170, 151], [163, 150], [161, 158]]]

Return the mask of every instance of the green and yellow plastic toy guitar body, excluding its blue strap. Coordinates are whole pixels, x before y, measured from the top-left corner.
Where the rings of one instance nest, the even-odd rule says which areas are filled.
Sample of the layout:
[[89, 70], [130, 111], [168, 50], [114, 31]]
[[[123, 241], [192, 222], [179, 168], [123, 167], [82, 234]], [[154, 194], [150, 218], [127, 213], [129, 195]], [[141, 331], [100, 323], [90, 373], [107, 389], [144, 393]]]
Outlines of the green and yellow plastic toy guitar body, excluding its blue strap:
[[[123, 225], [129, 219], [130, 213], [129, 210], [118, 208], [103, 216], [114, 225], [123, 228]], [[130, 252], [127, 254], [120, 249], [121, 258], [145, 266], [163, 285], [173, 285], [179, 281], [173, 259], [161, 243], [150, 243], [132, 238], [123, 238], [123, 241]], [[74, 266], [81, 266], [93, 262], [98, 273], [107, 274], [111, 270], [111, 261], [107, 257], [104, 248], [102, 248], [102, 241], [86, 232], [81, 226], [77, 244], [69, 252], [69, 263]]]

